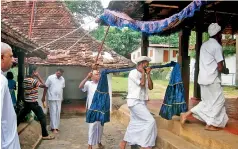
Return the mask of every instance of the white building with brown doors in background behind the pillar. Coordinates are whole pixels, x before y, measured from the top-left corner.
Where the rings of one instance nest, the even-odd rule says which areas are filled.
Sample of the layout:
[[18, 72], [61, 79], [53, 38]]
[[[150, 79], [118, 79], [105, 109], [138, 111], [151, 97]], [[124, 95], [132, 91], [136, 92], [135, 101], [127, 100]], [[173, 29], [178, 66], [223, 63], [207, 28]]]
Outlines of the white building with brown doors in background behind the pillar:
[[[151, 58], [150, 63], [164, 63], [177, 61], [178, 47], [166, 44], [149, 44], [147, 55]], [[131, 61], [141, 56], [141, 47], [131, 53]]]

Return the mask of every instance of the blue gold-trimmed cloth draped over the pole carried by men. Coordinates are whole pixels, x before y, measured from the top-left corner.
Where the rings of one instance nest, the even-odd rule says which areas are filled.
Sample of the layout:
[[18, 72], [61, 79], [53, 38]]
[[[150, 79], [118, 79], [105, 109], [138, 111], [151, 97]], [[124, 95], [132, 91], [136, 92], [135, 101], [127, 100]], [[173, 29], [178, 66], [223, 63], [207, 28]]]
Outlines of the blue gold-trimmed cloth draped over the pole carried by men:
[[[180, 81], [176, 78], [181, 78], [180, 70], [179, 70], [179, 64], [176, 62], [171, 62], [165, 65], [158, 65], [158, 66], [151, 66], [152, 69], [156, 68], [164, 68], [164, 67], [174, 67], [170, 84], [176, 84], [176, 81]], [[135, 68], [124, 68], [124, 69], [105, 69], [101, 72], [101, 78], [98, 82], [97, 90], [95, 91], [92, 104], [90, 108], [88, 109], [86, 113], [86, 122], [87, 123], [94, 123], [95, 121], [100, 121], [102, 125], [104, 123], [110, 121], [110, 95], [108, 92], [108, 81], [107, 81], [107, 74], [109, 73], [117, 73], [117, 72], [126, 72], [133, 70]], [[180, 75], [180, 76], [177, 76]], [[186, 105], [184, 101], [184, 88], [183, 85], [180, 86], [178, 91], [174, 91], [176, 97], [179, 97], [180, 99], [174, 98], [173, 102], [184, 102], [183, 106], [174, 108], [177, 110], [177, 112], [182, 111], [184, 112], [184, 105]], [[181, 95], [183, 94], [183, 95]], [[166, 94], [166, 96], [171, 96], [170, 94]], [[165, 98], [165, 100], [170, 100], [171, 98]], [[169, 101], [166, 101], [165, 103], [169, 103]], [[185, 106], [186, 107], [186, 106]], [[180, 109], [182, 108], [182, 109]], [[168, 111], [168, 110], [167, 110]], [[173, 115], [175, 112], [171, 111], [171, 113], [168, 111], [168, 113], [165, 113], [165, 115]]]

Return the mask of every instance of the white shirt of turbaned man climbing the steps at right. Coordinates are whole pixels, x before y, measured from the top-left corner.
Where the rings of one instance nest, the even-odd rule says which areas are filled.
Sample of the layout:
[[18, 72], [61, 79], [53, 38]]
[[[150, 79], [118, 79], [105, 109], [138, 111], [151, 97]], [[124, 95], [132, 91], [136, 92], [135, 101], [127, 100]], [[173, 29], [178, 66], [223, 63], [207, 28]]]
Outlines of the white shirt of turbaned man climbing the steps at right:
[[222, 47], [213, 38], [204, 42], [200, 50], [198, 83], [209, 85], [214, 83], [215, 79], [221, 82], [217, 63], [223, 61]]

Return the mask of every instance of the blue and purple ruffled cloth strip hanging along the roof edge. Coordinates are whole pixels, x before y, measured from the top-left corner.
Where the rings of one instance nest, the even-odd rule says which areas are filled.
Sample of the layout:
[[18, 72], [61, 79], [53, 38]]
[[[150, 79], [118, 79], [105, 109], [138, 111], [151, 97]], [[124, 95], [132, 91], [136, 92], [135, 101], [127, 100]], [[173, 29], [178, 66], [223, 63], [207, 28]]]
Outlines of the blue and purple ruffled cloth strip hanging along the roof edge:
[[199, 11], [201, 6], [207, 3], [207, 1], [203, 0], [194, 0], [179, 13], [159, 21], [137, 21], [133, 20], [125, 13], [108, 9], [104, 10], [100, 19], [110, 26], [116, 26], [118, 28], [128, 27], [135, 31], [154, 34], [163, 32], [164, 30], [169, 29], [171, 25], [178, 24], [178, 22], [186, 18], [193, 17], [195, 12]]

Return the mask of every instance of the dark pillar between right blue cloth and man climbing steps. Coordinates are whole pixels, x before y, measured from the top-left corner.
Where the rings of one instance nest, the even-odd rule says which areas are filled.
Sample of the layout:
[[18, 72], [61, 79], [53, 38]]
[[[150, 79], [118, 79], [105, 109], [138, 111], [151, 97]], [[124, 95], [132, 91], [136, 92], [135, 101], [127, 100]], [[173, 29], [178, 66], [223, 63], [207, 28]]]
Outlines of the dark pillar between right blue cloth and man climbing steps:
[[190, 82], [190, 57], [188, 56], [189, 36], [191, 30], [183, 28], [179, 33], [179, 57], [178, 62], [181, 66], [181, 75], [185, 89], [185, 101], [189, 106], [189, 82]]

